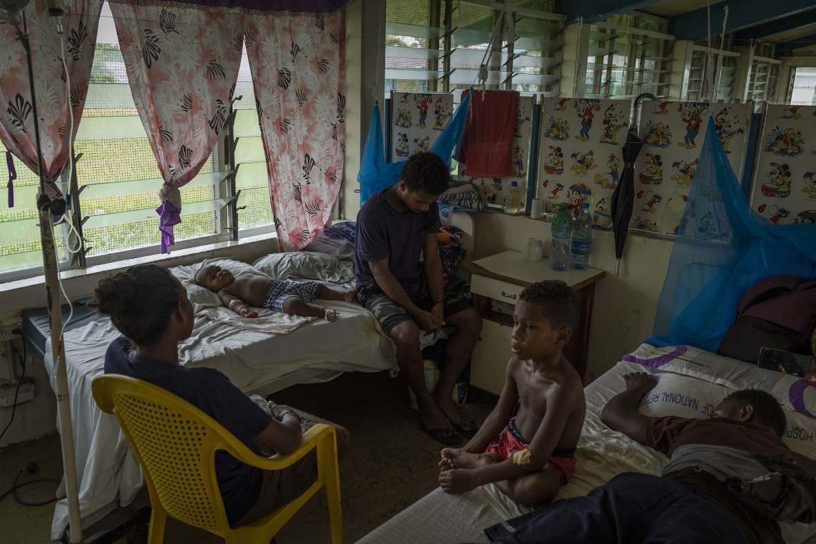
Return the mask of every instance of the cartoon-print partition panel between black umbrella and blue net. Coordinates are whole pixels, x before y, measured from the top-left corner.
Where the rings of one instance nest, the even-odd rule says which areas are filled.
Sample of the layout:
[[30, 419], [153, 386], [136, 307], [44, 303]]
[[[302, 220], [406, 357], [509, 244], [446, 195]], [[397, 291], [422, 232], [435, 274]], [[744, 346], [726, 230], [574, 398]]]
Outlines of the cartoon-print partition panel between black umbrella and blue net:
[[[635, 161], [635, 203], [630, 228], [684, 234], [683, 210], [706, 137], [706, 120], [714, 117], [716, 135], [737, 179], [744, 164], [749, 104], [693, 102], [643, 103], [639, 134], [644, 146]], [[690, 202], [694, 206], [694, 201]], [[704, 227], [702, 223], [700, 228]]]

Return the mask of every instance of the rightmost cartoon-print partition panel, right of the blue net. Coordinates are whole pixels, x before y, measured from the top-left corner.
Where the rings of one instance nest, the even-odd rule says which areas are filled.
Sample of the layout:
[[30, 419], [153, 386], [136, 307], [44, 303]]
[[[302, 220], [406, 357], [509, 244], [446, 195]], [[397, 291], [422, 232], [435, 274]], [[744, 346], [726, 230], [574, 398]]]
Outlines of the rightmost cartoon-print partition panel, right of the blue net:
[[816, 106], [768, 105], [751, 207], [778, 225], [816, 223]]

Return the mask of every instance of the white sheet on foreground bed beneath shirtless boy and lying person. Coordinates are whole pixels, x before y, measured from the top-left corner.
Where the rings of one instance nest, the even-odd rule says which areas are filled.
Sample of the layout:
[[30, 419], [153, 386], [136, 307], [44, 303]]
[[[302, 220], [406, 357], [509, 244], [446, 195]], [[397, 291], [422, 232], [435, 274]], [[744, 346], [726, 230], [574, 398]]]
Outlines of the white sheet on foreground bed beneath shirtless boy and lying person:
[[[660, 380], [662, 373], [669, 375], [667, 373], [671, 372], [680, 374], [682, 378], [688, 380], [717, 383], [722, 387], [720, 400], [733, 389], [757, 387], [772, 392], [783, 402], [789, 396], [788, 388], [795, 387], [797, 380], [787, 374], [758, 369], [756, 366], [714, 356], [694, 347], [684, 347], [675, 352], [673, 347], [661, 349], [644, 344], [633, 352], [633, 356], [624, 358], [638, 360], [641, 364], [620, 361], [585, 390], [587, 417], [575, 453], [578, 464], [570, 483], [561, 488], [558, 498], [585, 495], [621, 472], [636, 471], [659, 475], [668, 461], [663, 453], [637, 444], [628, 436], [612, 431], [601, 422], [601, 409], [608, 400], [625, 388], [624, 374], [653, 372], [658, 374]], [[650, 364], [652, 368], [644, 366]], [[808, 391], [806, 395], [816, 396], [816, 389], [813, 393]], [[806, 399], [806, 404], [811, 405], [813, 401], [812, 398]], [[648, 410], [645, 405], [641, 409]], [[787, 406], [783, 402], [783, 409], [787, 409], [790, 430], [796, 425], [796, 421], [799, 421], [796, 417], [800, 414], [793, 414], [796, 417], [792, 417], [789, 402]], [[704, 415], [701, 414], [699, 417]], [[811, 458], [816, 458], [814, 453], [807, 454]], [[530, 509], [507, 498], [494, 484], [461, 495], [449, 495], [437, 488], [357, 542], [358, 544], [490, 542], [483, 529], [527, 511]], [[799, 529], [805, 530], [805, 526], [800, 525]], [[809, 527], [809, 530], [813, 529], [814, 527]], [[798, 538], [791, 538], [789, 542], [800, 542], [805, 536], [807, 535], [800, 533]], [[814, 544], [816, 537], [810, 537], [805, 542]]]

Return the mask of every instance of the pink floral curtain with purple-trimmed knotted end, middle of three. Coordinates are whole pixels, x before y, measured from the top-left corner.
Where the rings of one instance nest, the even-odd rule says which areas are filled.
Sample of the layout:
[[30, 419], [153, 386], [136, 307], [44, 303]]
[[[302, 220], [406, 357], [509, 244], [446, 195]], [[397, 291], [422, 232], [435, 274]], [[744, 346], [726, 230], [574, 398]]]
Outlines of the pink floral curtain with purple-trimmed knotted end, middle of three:
[[175, 2], [111, 0], [131, 93], [164, 185], [162, 253], [181, 223], [179, 188], [210, 157], [241, 64], [241, 15]]

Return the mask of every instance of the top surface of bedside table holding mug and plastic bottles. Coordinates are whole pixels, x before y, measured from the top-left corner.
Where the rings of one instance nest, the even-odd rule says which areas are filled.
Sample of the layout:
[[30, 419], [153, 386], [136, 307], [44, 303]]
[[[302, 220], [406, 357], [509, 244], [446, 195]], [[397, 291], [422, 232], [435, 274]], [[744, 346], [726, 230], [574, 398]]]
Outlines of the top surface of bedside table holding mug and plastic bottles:
[[573, 290], [591, 285], [606, 274], [598, 268], [584, 270], [567, 268], [560, 272], [555, 271], [550, 268], [548, 259], [526, 261], [521, 251], [503, 251], [484, 259], [477, 259], [468, 263], [465, 270], [477, 276], [486, 276], [524, 287], [535, 281], [561, 280], [565, 281], [566, 285], [570, 285]]

